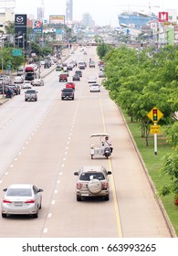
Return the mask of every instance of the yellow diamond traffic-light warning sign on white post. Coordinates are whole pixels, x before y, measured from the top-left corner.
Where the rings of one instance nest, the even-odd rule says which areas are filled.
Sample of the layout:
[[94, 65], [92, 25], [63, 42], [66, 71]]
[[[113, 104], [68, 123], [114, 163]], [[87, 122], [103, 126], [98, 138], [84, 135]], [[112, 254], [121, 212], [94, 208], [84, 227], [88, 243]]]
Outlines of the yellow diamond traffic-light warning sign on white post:
[[152, 120], [154, 125], [152, 125], [152, 133], [154, 134], [154, 155], [157, 155], [157, 133], [160, 133], [160, 125], [157, 125], [158, 121], [162, 118], [163, 113], [159, 111], [156, 107], [152, 108], [147, 114], [148, 118]]

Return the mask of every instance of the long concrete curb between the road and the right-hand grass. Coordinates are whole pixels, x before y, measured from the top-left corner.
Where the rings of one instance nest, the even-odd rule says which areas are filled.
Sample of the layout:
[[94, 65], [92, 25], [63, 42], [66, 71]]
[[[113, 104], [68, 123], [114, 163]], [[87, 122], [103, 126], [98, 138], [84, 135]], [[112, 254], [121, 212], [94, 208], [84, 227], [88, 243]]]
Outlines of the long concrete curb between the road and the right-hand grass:
[[170, 231], [170, 233], [171, 233], [171, 236], [172, 236], [173, 238], [177, 238], [177, 235], [176, 235], [176, 233], [175, 233], [175, 230], [174, 230], [174, 228], [173, 228], [173, 225], [172, 225], [172, 223], [171, 223], [171, 220], [169, 219], [169, 216], [167, 215], [167, 212], [166, 212], [165, 208], [164, 208], [163, 205], [162, 205], [162, 200], [161, 200], [160, 197], [157, 196], [156, 187], [154, 186], [154, 184], [153, 184], [153, 182], [152, 182], [152, 178], [151, 178], [151, 176], [149, 175], [148, 169], [146, 168], [146, 165], [144, 164], [144, 161], [143, 161], [143, 159], [142, 159], [142, 157], [141, 157], [141, 153], [140, 153], [140, 151], [139, 151], [139, 149], [138, 149], [138, 147], [137, 147], [137, 144], [135, 143], [135, 141], [134, 141], [134, 139], [133, 139], [133, 137], [132, 137], [132, 134], [131, 134], [131, 131], [130, 131], [130, 129], [129, 129], [129, 126], [128, 126], [128, 124], [127, 124], [127, 122], [126, 122], [126, 120], [125, 120], [125, 118], [124, 118], [124, 116], [123, 116], [123, 114], [122, 114], [122, 112], [121, 112], [119, 106], [118, 106], [118, 108], [119, 108], [120, 114], [121, 114], [121, 116], [122, 116], [122, 119], [123, 119], [123, 121], [124, 121], [124, 123], [125, 123], [125, 125], [126, 125], [126, 127], [127, 127], [128, 133], [130, 134], [131, 142], [132, 142], [132, 144], [133, 144], [133, 146], [134, 146], [134, 148], [135, 148], [135, 151], [137, 152], [137, 155], [139, 156], [139, 159], [140, 159], [140, 161], [141, 161], [141, 165], [142, 165], [142, 167], [143, 167], [143, 170], [144, 170], [144, 172], [145, 172], [145, 174], [146, 174], [146, 176], [147, 176], [147, 178], [148, 178], [148, 180], [149, 180], [150, 186], [152, 187], [152, 192], [153, 192], [153, 194], [154, 194], [154, 197], [155, 197], [155, 199], [156, 199], [156, 201], [157, 201], [157, 203], [158, 203], [158, 205], [159, 205], [159, 208], [162, 210], [162, 216], [163, 216], [163, 218], [165, 219], [166, 225], [167, 225], [167, 227], [168, 227], [168, 229], [169, 229], [169, 231]]

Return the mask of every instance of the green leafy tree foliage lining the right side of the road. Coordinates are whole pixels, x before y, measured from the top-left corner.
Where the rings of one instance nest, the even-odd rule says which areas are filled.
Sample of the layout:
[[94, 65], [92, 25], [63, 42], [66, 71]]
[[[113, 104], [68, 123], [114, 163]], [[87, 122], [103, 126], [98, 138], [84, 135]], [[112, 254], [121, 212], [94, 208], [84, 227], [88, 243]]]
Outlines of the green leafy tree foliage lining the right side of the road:
[[153, 55], [148, 55], [148, 50], [112, 48], [103, 59], [103, 85], [110, 98], [131, 116], [131, 122], [141, 123], [146, 145], [151, 123], [147, 113], [154, 106], [163, 112], [159, 123], [167, 127], [167, 142], [174, 150], [164, 157], [162, 174], [170, 176], [172, 182], [162, 187], [161, 195], [173, 192], [178, 203], [178, 47], [166, 46]]

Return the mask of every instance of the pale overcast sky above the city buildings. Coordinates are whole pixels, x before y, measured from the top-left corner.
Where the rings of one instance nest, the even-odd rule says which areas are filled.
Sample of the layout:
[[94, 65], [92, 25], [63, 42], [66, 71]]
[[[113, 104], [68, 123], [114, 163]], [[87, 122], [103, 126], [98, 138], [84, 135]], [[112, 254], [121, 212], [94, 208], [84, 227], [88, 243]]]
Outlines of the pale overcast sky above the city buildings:
[[[37, 17], [37, 7], [41, 6], [42, 0], [16, 0], [16, 14], [33, 14]], [[167, 9], [177, 9], [177, 0], [73, 0], [73, 18], [81, 20], [82, 15], [88, 12], [96, 25], [118, 26], [117, 16], [123, 10], [144, 10], [149, 12], [149, 3], [153, 13]], [[66, 0], [44, 0], [45, 17], [48, 20], [49, 15], [65, 15]], [[153, 7], [153, 6], [160, 7]]]

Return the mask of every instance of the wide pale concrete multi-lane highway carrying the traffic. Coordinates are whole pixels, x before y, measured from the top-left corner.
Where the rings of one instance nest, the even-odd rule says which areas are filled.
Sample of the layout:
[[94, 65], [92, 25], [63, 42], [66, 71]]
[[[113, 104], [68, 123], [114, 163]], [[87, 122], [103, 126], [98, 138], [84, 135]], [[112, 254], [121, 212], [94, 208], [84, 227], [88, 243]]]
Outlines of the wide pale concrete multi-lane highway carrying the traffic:
[[[96, 48], [86, 51], [83, 55], [78, 48], [69, 59], [98, 63]], [[44, 79], [45, 86], [37, 87], [37, 102], [26, 102], [22, 91], [0, 107], [0, 198], [3, 188], [12, 183], [33, 183], [44, 189], [38, 218], [0, 218], [0, 237], [172, 236], [119, 108], [103, 87], [89, 92], [87, 79], [98, 74], [98, 66], [83, 70], [74, 101], [61, 101], [65, 82], [58, 81], [54, 70]], [[114, 149], [108, 160], [90, 158], [89, 136], [99, 132], [111, 136]], [[74, 172], [81, 165], [110, 169], [110, 201], [77, 202]]]

